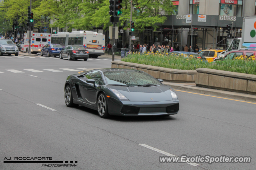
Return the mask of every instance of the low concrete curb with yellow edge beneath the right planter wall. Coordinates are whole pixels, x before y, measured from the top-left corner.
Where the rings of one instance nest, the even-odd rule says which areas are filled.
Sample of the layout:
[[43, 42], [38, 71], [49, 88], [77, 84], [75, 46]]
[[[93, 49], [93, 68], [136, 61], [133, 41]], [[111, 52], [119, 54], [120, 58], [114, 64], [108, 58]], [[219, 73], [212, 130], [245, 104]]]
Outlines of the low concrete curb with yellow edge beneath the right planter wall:
[[252, 94], [243, 94], [238, 92], [229, 92], [224, 90], [216, 90], [216, 89], [208, 89], [208, 88], [201, 88], [196, 86], [187, 86], [181, 85], [178, 83], [170, 83], [170, 82], [163, 82], [163, 84], [171, 86], [174, 90], [182, 90], [187, 92], [194, 92], [198, 94], [206, 94], [211, 96], [218, 96], [223, 98], [230, 98], [230, 99], [237, 99], [243, 100], [246, 102], [256, 102], [256, 95]]

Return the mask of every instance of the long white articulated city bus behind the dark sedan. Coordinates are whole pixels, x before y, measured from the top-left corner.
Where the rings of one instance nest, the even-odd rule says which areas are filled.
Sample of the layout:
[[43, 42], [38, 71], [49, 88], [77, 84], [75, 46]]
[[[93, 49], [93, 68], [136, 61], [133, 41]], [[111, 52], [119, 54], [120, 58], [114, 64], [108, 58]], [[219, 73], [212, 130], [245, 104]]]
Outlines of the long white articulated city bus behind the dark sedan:
[[[60, 43], [57, 42], [57, 37]], [[89, 51], [89, 56], [94, 58], [104, 55], [105, 52], [105, 35], [93, 31], [59, 32], [52, 35], [52, 43], [65, 46], [82, 45]]]

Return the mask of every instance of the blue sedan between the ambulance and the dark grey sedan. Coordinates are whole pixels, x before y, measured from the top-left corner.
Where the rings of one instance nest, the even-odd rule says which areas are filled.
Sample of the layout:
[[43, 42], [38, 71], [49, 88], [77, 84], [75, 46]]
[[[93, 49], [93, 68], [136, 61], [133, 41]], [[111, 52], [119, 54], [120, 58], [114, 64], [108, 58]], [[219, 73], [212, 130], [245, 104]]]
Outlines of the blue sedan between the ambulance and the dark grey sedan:
[[60, 44], [46, 44], [40, 52], [40, 55], [47, 55], [47, 57], [60, 55], [60, 51], [62, 50], [62, 46]]

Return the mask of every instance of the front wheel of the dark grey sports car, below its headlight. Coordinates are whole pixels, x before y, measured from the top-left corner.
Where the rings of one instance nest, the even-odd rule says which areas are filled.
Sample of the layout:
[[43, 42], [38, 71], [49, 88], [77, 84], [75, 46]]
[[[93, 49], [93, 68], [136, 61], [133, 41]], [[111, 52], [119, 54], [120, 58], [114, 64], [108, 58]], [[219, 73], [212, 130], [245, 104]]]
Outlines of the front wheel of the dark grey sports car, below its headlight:
[[104, 93], [100, 93], [100, 95], [97, 98], [97, 110], [101, 118], [107, 118], [109, 116], [108, 104], [106, 101], [106, 95]]

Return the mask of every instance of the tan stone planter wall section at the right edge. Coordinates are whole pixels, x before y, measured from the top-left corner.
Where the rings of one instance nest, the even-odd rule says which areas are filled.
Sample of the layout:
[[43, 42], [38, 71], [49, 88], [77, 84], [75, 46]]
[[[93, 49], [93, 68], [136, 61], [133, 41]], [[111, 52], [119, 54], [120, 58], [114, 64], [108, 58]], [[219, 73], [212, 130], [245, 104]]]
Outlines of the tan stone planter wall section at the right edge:
[[256, 75], [238, 72], [196, 69], [196, 86], [256, 94]]

